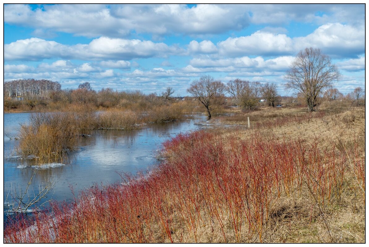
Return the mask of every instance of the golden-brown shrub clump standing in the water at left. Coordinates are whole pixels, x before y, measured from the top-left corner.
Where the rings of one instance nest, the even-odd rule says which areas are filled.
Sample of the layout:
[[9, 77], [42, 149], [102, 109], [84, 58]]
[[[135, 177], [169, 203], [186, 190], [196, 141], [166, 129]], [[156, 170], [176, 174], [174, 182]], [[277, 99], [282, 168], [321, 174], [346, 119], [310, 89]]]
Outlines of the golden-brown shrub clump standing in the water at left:
[[30, 123], [21, 126], [18, 154], [34, 155], [35, 163], [66, 162], [66, 151], [73, 151], [80, 134], [96, 127], [96, 116], [88, 109], [70, 112], [32, 113]]

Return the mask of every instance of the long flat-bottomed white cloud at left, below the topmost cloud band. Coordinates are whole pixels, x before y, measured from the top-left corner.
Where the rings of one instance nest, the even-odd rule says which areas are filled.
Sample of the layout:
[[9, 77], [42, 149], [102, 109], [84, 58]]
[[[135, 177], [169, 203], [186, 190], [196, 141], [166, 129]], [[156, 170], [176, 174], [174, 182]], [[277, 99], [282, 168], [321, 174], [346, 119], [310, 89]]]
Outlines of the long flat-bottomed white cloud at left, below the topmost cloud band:
[[39, 38], [22, 39], [4, 45], [5, 60], [42, 60], [54, 57], [64, 59], [101, 60], [165, 57], [180, 54], [182, 49], [150, 40], [114, 39], [100, 37], [89, 44], [63, 45]]

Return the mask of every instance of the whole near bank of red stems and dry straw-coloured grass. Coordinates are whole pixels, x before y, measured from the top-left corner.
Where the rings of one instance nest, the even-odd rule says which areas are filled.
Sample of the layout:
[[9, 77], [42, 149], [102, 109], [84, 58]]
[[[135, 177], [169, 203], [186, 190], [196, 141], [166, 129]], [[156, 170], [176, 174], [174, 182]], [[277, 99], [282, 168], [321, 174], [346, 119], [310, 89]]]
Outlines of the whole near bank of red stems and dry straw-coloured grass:
[[[122, 176], [124, 185], [52, 205], [52, 216], [35, 217], [55, 218], [55, 239], [38, 234], [50, 231], [41, 223], [27, 241], [365, 241], [365, 109], [263, 121], [172, 138], [150, 176]], [[7, 240], [20, 241], [22, 229], [7, 228]]]

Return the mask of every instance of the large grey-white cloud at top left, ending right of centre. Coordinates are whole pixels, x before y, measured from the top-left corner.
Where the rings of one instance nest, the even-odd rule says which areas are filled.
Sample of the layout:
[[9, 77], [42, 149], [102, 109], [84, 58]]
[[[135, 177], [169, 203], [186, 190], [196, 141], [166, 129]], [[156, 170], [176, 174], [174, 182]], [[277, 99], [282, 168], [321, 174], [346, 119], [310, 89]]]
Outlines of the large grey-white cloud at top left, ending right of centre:
[[199, 4], [192, 8], [186, 4], [60, 4], [32, 10], [25, 4], [8, 4], [4, 6], [4, 20], [10, 24], [90, 38], [127, 37], [132, 31], [154, 35], [203, 35], [246, 27], [249, 14], [244, 11], [245, 7], [214, 4]]

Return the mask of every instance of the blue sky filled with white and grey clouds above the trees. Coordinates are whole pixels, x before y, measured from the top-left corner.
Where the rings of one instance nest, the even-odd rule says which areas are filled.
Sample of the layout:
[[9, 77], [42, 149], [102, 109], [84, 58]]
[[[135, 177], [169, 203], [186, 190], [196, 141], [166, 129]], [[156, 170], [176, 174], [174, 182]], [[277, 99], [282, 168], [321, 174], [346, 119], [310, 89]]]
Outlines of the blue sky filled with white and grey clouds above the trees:
[[320, 48], [344, 94], [365, 87], [364, 4], [6, 4], [4, 81], [175, 96], [202, 75], [276, 83], [296, 54]]

